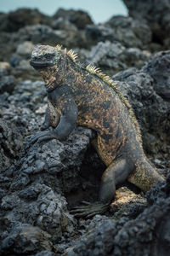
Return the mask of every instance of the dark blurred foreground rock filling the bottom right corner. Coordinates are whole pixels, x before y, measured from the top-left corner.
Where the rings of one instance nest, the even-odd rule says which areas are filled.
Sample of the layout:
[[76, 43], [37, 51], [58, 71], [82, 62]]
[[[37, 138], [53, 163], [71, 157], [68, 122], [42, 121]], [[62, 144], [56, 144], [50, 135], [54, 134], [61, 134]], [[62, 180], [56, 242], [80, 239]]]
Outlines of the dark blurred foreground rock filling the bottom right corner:
[[170, 200], [164, 196], [158, 197], [155, 205], [135, 219], [100, 219], [81, 240], [67, 248], [65, 255], [167, 255], [170, 253], [169, 213]]

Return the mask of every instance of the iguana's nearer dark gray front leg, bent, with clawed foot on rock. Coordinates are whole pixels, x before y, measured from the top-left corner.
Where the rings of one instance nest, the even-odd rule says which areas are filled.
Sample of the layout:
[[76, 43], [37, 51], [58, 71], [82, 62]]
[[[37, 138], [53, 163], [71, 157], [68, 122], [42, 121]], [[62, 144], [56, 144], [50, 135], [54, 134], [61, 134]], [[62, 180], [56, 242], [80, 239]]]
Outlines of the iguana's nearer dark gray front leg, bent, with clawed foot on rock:
[[[62, 114], [60, 115], [59, 123], [56, 128], [52, 131], [38, 131], [35, 136], [31, 137], [29, 143], [41, 143], [42, 141], [54, 138], [64, 140], [69, 136], [77, 123], [77, 104], [71, 96], [62, 96], [62, 105], [59, 107], [59, 112]], [[48, 125], [48, 122], [50, 123], [48, 116], [46, 117], [46, 120], [46, 125]]]

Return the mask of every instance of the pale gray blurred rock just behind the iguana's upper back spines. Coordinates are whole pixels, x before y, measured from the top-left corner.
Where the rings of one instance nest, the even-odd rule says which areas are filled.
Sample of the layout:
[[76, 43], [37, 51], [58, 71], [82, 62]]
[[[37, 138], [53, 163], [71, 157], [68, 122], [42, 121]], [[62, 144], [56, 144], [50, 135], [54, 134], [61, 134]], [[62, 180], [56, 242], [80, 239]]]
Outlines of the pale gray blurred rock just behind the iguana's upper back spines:
[[150, 52], [138, 48], [125, 48], [120, 43], [106, 41], [94, 46], [87, 57], [88, 63], [95, 64], [113, 75], [127, 67], [143, 67], [150, 57]]

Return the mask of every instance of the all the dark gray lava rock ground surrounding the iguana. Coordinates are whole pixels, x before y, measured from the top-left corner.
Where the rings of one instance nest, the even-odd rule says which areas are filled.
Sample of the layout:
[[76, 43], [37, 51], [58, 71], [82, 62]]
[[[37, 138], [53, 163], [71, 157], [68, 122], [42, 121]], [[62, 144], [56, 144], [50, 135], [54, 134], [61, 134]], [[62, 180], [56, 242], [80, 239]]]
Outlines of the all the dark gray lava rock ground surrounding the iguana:
[[[0, 14], [0, 255], [170, 253], [170, 3], [124, 3], [128, 17], [98, 25], [83, 11]], [[82, 200], [96, 201], [105, 166], [90, 144], [94, 132], [86, 128], [77, 127], [65, 142], [28, 145], [26, 137], [38, 131], [47, 107], [44, 83], [29, 65], [34, 44], [73, 48], [80, 61], [116, 81], [133, 105], [144, 151], [165, 182], [146, 195], [124, 183], [104, 215], [71, 215]]]

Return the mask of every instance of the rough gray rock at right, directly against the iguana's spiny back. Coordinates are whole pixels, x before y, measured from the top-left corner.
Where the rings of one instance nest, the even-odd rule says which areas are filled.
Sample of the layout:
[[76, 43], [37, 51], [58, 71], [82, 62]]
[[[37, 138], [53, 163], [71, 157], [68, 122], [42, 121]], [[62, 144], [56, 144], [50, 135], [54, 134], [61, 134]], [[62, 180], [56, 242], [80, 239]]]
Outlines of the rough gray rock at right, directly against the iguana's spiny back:
[[[113, 76], [132, 104], [149, 154], [168, 154], [169, 102], [157, 95], [154, 80], [144, 70], [129, 68]], [[126, 82], [126, 83], [124, 83]]]

